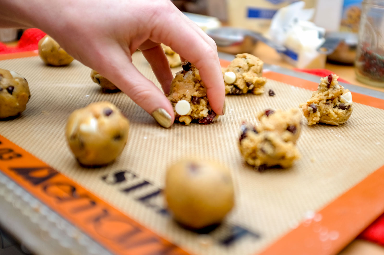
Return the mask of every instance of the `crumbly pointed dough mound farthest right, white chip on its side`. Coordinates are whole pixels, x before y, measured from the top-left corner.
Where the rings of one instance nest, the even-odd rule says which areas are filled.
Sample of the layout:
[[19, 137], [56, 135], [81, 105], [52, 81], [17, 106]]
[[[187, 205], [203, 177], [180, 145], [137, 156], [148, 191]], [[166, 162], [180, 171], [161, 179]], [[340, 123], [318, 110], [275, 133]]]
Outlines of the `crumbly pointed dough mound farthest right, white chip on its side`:
[[352, 114], [352, 94], [339, 85], [335, 74], [321, 78], [318, 90], [306, 103], [300, 105], [309, 125], [325, 123], [340, 126]]

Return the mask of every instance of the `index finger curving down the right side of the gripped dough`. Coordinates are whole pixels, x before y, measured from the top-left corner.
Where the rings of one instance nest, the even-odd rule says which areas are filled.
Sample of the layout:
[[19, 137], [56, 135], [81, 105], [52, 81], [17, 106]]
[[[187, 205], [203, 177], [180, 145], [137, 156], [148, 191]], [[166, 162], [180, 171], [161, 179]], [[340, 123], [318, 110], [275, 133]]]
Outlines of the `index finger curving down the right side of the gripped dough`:
[[223, 114], [225, 87], [217, 50], [197, 32], [195, 24], [190, 25], [190, 21], [185, 21], [188, 24], [186, 26], [184, 18], [180, 17], [177, 12], [167, 17], [167, 31], [154, 34], [156, 38], [153, 41], [163, 41], [184, 59], [195, 64], [207, 88], [212, 109], [217, 114]]

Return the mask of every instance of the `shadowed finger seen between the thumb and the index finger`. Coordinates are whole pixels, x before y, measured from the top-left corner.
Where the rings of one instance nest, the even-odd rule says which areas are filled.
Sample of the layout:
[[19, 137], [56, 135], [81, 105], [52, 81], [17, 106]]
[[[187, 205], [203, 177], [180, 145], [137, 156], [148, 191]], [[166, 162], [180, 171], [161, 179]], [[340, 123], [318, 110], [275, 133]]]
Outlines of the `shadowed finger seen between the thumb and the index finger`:
[[169, 94], [170, 83], [172, 82], [173, 75], [169, 67], [166, 54], [164, 53], [161, 45], [152, 47], [141, 51], [147, 59], [151, 68], [156, 75], [157, 80], [161, 84], [164, 93]]

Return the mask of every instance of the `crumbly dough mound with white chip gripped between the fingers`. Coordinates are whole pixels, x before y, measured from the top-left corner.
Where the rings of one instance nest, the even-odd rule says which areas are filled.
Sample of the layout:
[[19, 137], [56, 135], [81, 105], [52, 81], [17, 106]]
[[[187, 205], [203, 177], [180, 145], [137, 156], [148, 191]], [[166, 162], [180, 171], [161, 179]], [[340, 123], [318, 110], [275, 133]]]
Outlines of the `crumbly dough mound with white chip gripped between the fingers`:
[[175, 120], [185, 125], [189, 125], [192, 120], [210, 124], [218, 118], [209, 105], [199, 70], [189, 62], [183, 64], [183, 70], [172, 80], [168, 99], [173, 106]]

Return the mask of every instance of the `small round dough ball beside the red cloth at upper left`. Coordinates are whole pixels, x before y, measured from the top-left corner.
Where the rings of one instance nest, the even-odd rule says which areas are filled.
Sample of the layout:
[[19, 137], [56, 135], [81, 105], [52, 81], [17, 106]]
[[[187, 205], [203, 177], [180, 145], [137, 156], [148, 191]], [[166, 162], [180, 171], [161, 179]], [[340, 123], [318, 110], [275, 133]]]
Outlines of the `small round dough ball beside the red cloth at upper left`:
[[60, 47], [60, 45], [48, 34], [41, 38], [38, 44], [39, 56], [47, 65], [63, 66], [69, 65], [73, 57]]

